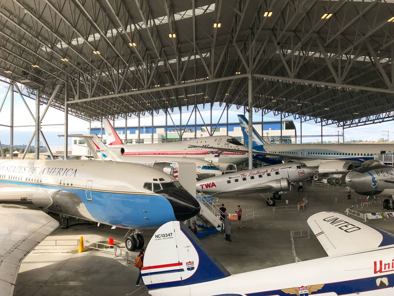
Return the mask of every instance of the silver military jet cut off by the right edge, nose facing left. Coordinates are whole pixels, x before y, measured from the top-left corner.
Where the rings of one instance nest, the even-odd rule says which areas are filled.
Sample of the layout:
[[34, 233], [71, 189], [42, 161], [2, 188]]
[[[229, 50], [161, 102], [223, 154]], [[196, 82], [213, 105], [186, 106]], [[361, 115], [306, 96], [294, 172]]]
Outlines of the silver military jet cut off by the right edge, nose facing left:
[[375, 159], [368, 160], [348, 172], [346, 185], [360, 195], [388, 197], [383, 200], [383, 208], [394, 209], [394, 166]]

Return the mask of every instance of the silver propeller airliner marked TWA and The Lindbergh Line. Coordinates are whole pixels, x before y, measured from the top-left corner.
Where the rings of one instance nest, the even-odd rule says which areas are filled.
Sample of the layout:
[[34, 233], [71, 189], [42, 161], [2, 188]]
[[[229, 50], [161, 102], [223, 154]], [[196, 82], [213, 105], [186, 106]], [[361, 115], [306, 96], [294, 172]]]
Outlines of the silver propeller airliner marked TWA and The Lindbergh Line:
[[[264, 193], [290, 190], [291, 183], [313, 176], [316, 168], [307, 167], [305, 163], [292, 162], [271, 165], [258, 169], [244, 170], [208, 178], [196, 183], [197, 191], [206, 194], [217, 193]], [[275, 199], [268, 197], [267, 205], [274, 206]]]

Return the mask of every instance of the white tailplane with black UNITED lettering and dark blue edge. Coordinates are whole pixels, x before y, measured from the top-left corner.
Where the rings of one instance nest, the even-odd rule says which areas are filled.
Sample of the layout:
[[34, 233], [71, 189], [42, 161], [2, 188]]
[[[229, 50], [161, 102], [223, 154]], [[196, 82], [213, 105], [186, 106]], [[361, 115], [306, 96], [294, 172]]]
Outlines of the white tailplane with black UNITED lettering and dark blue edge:
[[320, 212], [308, 224], [327, 255], [340, 255], [394, 244], [394, 235], [336, 212]]

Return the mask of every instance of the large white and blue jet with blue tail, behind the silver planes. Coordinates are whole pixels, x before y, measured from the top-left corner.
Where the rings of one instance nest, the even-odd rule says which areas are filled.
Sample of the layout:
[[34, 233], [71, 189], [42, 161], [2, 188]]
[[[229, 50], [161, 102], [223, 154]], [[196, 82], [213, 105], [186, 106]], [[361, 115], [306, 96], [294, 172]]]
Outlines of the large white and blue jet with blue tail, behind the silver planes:
[[[238, 115], [238, 119], [245, 146], [249, 146], [249, 121], [243, 115]], [[374, 159], [375, 154], [393, 154], [392, 144], [270, 144], [264, 141], [254, 128], [252, 139], [253, 152], [257, 154], [253, 159], [268, 164], [302, 161], [310, 167], [318, 166], [319, 172], [326, 174], [316, 174], [314, 179], [336, 177], [336, 181], [340, 181], [340, 184], [335, 183], [336, 185], [345, 183], [343, 173], [355, 169], [364, 161]], [[239, 151], [247, 152], [242, 149]]]

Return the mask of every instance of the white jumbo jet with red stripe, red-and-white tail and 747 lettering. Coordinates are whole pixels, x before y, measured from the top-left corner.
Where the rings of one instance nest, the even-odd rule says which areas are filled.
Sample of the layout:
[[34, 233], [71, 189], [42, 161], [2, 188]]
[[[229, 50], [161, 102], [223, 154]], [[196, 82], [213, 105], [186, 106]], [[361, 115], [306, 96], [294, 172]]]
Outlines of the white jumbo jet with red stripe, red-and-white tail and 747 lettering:
[[[226, 173], [236, 172], [237, 165], [241, 165], [248, 160], [245, 152], [238, 152], [238, 150], [247, 150], [247, 147], [234, 137], [212, 136], [172, 143], [125, 145], [112, 127], [110, 121], [105, 119], [103, 122], [107, 137], [107, 146], [124, 148], [124, 155], [185, 157], [185, 161], [188, 161], [189, 157], [199, 158], [212, 162], [212, 164]], [[232, 149], [232, 152], [212, 151], [211, 149], [196, 147], [195, 145], [229, 148]]]

